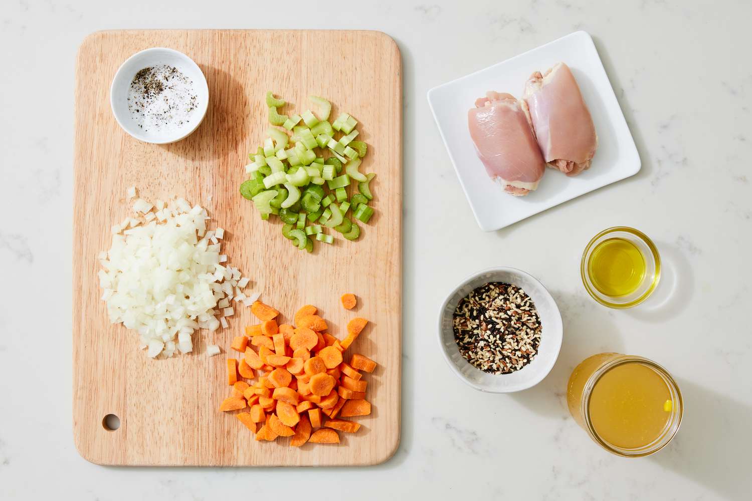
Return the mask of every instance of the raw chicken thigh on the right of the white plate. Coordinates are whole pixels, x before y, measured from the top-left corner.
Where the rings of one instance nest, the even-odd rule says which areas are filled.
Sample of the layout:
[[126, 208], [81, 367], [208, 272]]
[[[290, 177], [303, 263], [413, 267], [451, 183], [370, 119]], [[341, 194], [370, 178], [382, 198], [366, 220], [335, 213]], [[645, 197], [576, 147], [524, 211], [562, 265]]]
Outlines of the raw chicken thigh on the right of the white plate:
[[559, 62], [544, 75], [533, 73], [523, 99], [547, 164], [567, 176], [590, 168], [598, 136], [569, 66]]

